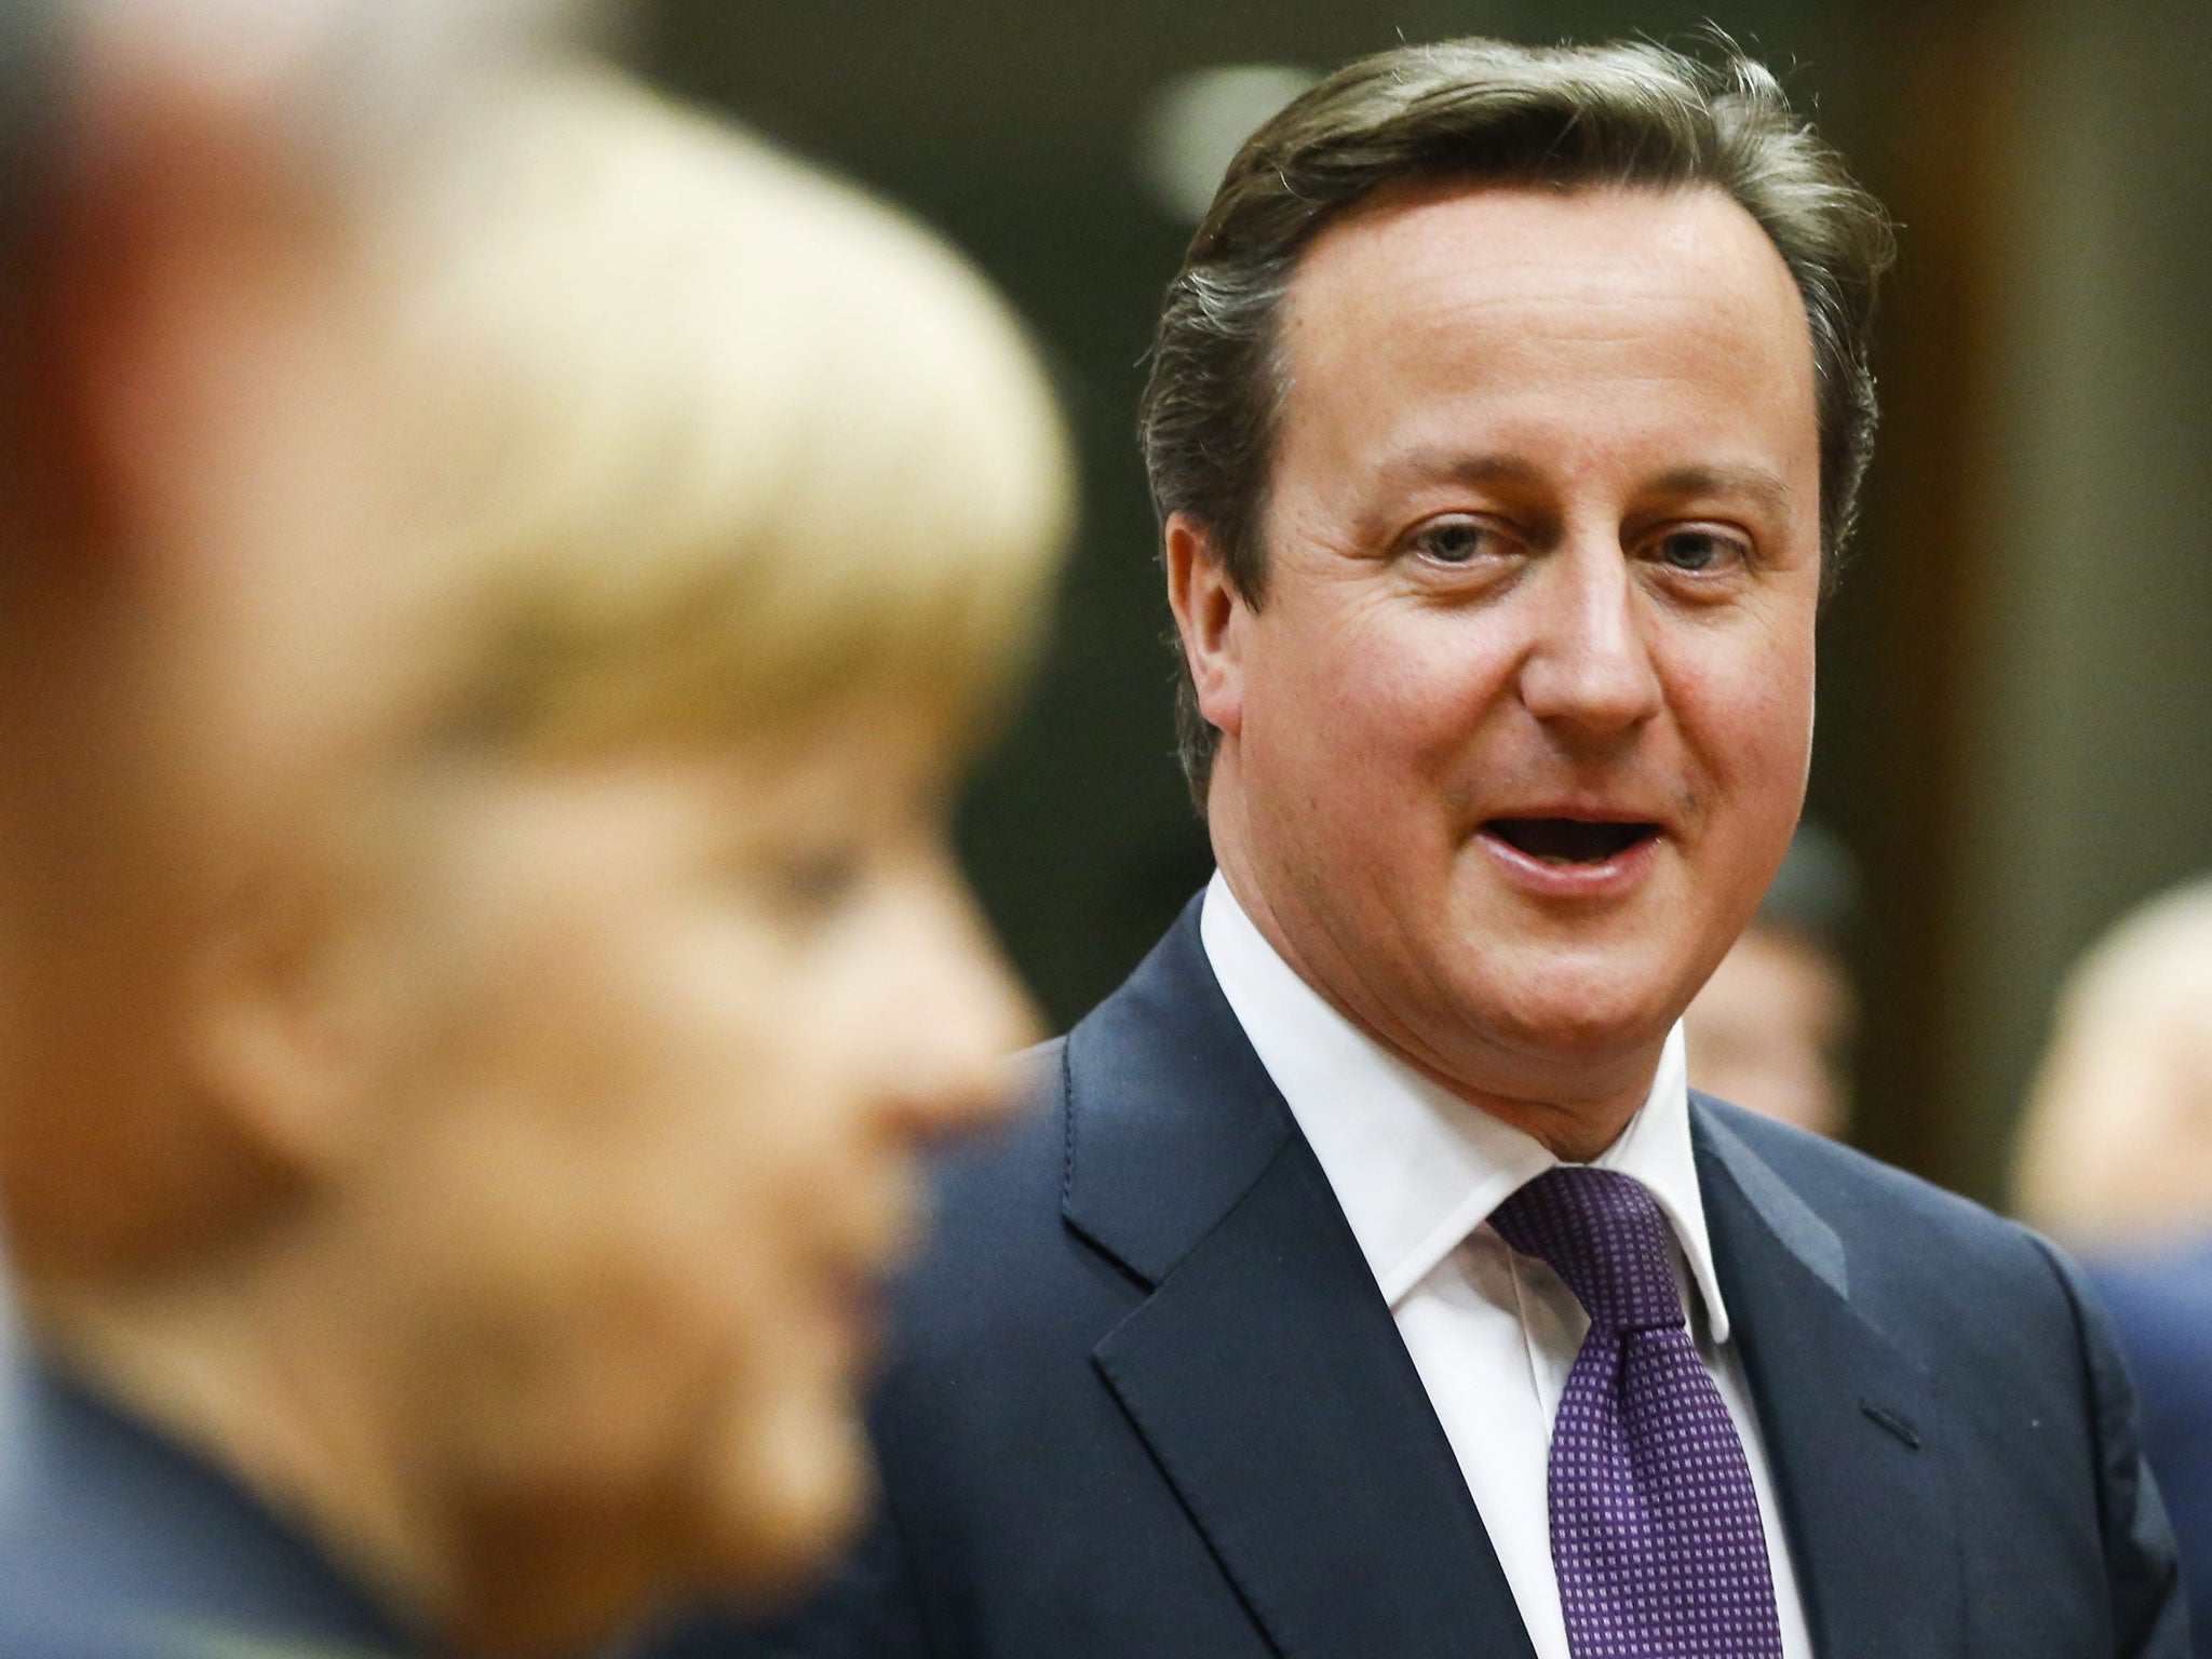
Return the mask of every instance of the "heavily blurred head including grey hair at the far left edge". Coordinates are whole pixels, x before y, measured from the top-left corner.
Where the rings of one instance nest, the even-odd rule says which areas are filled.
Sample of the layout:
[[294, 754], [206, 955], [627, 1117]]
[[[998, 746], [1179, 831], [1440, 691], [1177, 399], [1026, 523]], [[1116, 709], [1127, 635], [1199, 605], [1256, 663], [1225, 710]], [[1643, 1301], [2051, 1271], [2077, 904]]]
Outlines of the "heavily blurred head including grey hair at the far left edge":
[[[420, 695], [380, 427], [403, 199], [555, 4], [29, 0], [0, 305], [0, 1133], [181, 1128], [175, 998]], [[124, 1015], [128, 1013], [128, 1035]], [[97, 1104], [97, 1110], [88, 1106]], [[197, 1130], [179, 1201], [221, 1186]], [[55, 1225], [122, 1245], [91, 1194]]]

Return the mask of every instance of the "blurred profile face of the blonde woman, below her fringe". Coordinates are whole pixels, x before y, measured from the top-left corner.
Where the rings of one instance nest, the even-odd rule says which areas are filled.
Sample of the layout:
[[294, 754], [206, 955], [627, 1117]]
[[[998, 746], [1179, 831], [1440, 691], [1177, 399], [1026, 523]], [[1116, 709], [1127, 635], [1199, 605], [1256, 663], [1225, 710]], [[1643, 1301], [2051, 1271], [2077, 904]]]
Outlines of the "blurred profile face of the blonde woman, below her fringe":
[[354, 1203], [476, 1571], [549, 1624], [761, 1586], [856, 1513], [916, 1155], [1033, 1035], [940, 748], [867, 710], [801, 752], [493, 765], [434, 814], [392, 958], [429, 1037], [387, 1044]]

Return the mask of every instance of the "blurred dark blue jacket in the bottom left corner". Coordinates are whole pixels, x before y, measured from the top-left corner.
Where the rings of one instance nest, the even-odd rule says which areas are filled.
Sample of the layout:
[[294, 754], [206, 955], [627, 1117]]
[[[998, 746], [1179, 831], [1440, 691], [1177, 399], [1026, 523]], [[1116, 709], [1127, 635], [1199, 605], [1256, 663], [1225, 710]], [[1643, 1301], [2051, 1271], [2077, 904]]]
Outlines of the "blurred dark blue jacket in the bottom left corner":
[[24, 1352], [0, 1400], [0, 1659], [429, 1652], [199, 1455]]

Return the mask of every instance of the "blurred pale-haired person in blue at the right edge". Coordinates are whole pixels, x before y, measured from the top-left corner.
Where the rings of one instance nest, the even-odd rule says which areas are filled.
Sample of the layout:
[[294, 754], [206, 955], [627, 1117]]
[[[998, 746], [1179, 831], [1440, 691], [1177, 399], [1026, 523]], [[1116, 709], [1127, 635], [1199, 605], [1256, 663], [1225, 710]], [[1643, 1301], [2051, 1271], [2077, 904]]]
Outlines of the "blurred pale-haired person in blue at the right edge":
[[2013, 1197], [2084, 1254], [2112, 1312], [2212, 1659], [2212, 880], [2150, 900], [2075, 967]]

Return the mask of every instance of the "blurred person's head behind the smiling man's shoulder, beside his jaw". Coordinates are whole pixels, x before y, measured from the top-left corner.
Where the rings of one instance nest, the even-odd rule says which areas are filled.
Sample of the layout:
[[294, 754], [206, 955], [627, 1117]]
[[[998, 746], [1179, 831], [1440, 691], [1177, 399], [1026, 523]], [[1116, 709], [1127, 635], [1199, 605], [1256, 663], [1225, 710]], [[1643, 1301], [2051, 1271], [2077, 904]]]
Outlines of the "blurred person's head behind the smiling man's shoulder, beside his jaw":
[[1849, 847], [1827, 825], [1801, 823], [1752, 925], [1681, 1018], [1690, 1086], [1843, 1139], [1858, 1031], [1845, 942], [1856, 922]]

